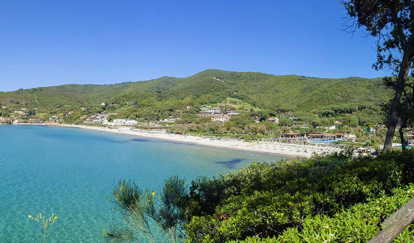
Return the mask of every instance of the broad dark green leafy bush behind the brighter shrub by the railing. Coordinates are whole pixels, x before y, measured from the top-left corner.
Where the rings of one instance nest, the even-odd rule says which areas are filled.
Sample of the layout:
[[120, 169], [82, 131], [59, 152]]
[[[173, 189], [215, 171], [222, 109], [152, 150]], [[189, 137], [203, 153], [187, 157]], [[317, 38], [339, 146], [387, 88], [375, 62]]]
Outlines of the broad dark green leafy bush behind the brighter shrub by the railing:
[[[218, 178], [200, 178], [190, 187], [188, 210], [193, 217], [187, 225], [188, 242], [300, 237], [318, 220], [339, 224], [341, 220], [334, 219], [344, 210], [349, 208], [351, 216], [351, 208], [376, 202], [392, 195], [395, 188], [413, 182], [413, 158], [412, 150], [377, 158], [314, 156], [278, 164], [253, 163]], [[404, 200], [398, 205], [403, 203]], [[357, 211], [360, 210], [354, 210]], [[358, 221], [358, 214], [355, 217]], [[372, 237], [380, 222], [373, 219], [360, 237]], [[345, 234], [338, 227], [340, 232], [332, 234]], [[292, 237], [279, 239], [295, 242]], [[303, 241], [303, 237], [297, 239]]]

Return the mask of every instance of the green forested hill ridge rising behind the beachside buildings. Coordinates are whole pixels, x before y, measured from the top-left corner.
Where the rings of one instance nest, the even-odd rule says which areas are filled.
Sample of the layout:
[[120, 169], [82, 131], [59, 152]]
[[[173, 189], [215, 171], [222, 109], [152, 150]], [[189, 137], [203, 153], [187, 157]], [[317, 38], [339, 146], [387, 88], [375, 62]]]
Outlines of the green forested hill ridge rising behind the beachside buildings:
[[[0, 92], [0, 104], [27, 104], [40, 110], [60, 106], [96, 105], [101, 102], [156, 103], [184, 100], [193, 104], [215, 104], [228, 97], [273, 111], [320, 112], [329, 114], [360, 107], [378, 111], [391, 98], [391, 91], [377, 86], [381, 79], [310, 78], [275, 76], [259, 72], [231, 72], [208, 69], [186, 78], [161, 77], [115, 85], [62, 85]], [[338, 108], [338, 109], [337, 109]]]

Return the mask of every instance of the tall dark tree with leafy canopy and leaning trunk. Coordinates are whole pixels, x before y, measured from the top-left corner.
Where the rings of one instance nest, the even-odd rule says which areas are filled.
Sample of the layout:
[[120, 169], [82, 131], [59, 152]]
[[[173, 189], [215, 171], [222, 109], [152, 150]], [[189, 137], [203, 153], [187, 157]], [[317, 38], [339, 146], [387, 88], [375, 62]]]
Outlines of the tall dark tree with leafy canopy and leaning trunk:
[[376, 37], [375, 69], [389, 69], [396, 75], [383, 152], [391, 150], [398, 122], [400, 99], [414, 60], [414, 2], [412, 0], [346, 0], [348, 30], [364, 27]]

